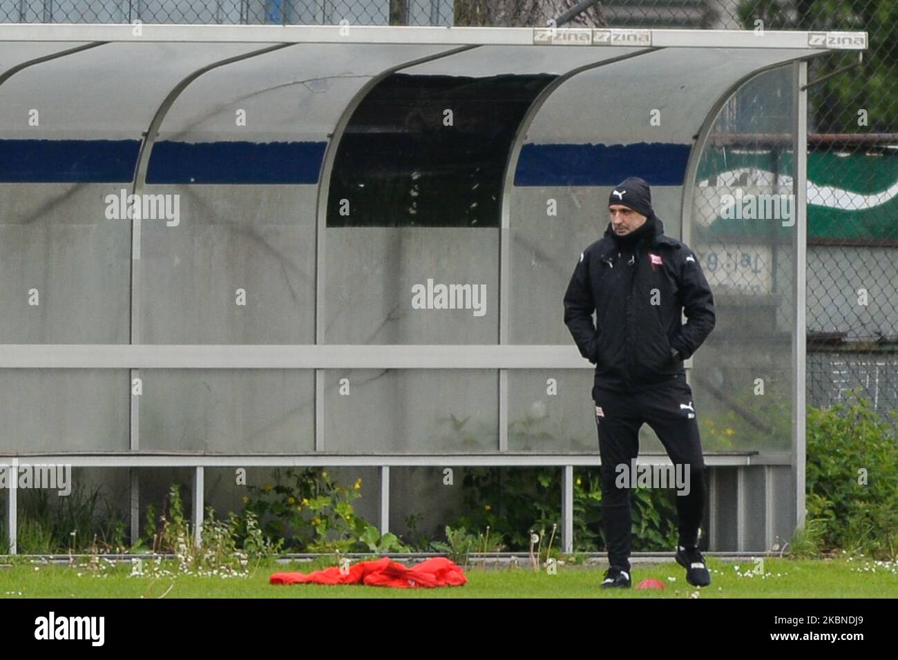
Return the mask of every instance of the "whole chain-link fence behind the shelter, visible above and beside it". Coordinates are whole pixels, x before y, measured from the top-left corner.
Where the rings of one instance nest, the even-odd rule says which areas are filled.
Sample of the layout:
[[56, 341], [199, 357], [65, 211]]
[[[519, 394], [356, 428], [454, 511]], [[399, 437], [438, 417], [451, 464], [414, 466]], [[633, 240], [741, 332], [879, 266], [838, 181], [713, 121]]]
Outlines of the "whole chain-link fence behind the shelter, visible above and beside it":
[[[0, 0], [0, 21], [527, 26], [543, 25], [575, 4]], [[808, 72], [807, 392], [809, 403], [829, 406], [860, 388], [876, 410], [898, 409], [898, 3], [629, 0], [594, 4], [567, 25], [868, 32], [862, 62], [847, 51], [815, 58]], [[786, 173], [792, 154], [782, 144], [789, 128], [778, 124], [781, 110], [742, 108], [740, 114], [737, 99], [725, 107], [710, 146], [726, 166], [706, 172], [707, 189], [696, 193], [696, 216], [707, 215], [709, 199], [700, 195], [708, 189], [718, 195], [721, 187], [774, 196], [794, 192]], [[727, 121], [741, 128], [727, 128]], [[729, 283], [734, 289], [777, 294], [777, 268], [788, 265], [778, 261], [778, 254], [787, 253], [778, 245], [787, 236], [749, 241], [734, 251], [726, 242], [706, 239], [706, 268], [712, 265], [708, 260], [716, 267], [735, 260], [743, 271], [740, 281]], [[770, 331], [783, 313], [774, 314]]]

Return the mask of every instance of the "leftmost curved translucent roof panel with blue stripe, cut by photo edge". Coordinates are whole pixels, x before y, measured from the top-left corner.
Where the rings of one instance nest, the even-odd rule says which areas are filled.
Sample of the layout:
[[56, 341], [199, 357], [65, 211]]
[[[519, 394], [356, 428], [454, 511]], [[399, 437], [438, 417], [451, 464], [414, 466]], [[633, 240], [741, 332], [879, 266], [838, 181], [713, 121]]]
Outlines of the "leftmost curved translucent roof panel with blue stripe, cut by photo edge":
[[[0, 46], [2, 61], [11, 47], [22, 48]], [[0, 84], [0, 181], [132, 180], [140, 143], [166, 96], [198, 69], [262, 48], [108, 43], [64, 54], [59, 43], [48, 46], [31, 48], [26, 54], [35, 57]]]

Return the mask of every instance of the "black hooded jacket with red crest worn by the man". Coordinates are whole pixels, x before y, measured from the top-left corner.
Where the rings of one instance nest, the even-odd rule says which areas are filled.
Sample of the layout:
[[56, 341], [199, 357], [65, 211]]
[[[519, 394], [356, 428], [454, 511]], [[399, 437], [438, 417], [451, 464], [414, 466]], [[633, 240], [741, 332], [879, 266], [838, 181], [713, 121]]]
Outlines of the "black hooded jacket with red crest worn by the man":
[[609, 223], [580, 255], [564, 296], [564, 322], [595, 365], [596, 387], [644, 390], [684, 374], [682, 360], [714, 329], [714, 297], [695, 253], [666, 236], [659, 217], [646, 222], [635, 241], [619, 240]]

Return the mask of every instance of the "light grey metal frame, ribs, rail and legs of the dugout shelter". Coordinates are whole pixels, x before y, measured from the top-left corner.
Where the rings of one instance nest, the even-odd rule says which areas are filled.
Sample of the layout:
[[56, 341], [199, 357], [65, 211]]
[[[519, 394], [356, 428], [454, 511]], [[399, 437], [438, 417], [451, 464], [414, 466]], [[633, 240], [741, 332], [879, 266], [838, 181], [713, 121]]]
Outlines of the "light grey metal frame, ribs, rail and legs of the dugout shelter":
[[[793, 380], [793, 412], [791, 455], [744, 453], [709, 455], [707, 464], [711, 468], [733, 467], [739, 470], [738, 488], [740, 506], [744, 506], [745, 488], [744, 469], [748, 466], [764, 466], [770, 469], [777, 465], [789, 465], [795, 475], [797, 511], [795, 520], [802, 524], [805, 512], [805, 286], [806, 286], [806, 60], [823, 52], [836, 49], [857, 49], [867, 47], [865, 32], [804, 32], [804, 31], [692, 31], [692, 30], [594, 30], [587, 28], [442, 28], [442, 27], [379, 27], [379, 26], [212, 26], [212, 25], [84, 25], [84, 24], [0, 24], [0, 48], [12, 42], [53, 42], [58, 48], [40, 57], [19, 62], [15, 66], [0, 69], [0, 85], [6, 83], [29, 66], [46, 62], [56, 57], [66, 57], [73, 53], [91, 48], [94, 45], [110, 42], [149, 43], [149, 42], [195, 42], [195, 43], [245, 43], [256, 44], [242, 55], [228, 57], [216, 61], [184, 77], [175, 85], [155, 112], [153, 123], [147, 128], [140, 155], [136, 181], [132, 183], [132, 191], [136, 191], [143, 182], [146, 172], [148, 153], [152, 148], [156, 131], [162, 120], [172, 107], [181, 92], [189, 87], [199, 76], [216, 68], [237, 60], [255, 57], [268, 53], [272, 49], [283, 48], [292, 44], [331, 43], [331, 44], [434, 44], [456, 46], [447, 52], [425, 57], [413, 62], [405, 62], [401, 66], [392, 67], [384, 75], [411, 64], [437, 59], [480, 46], [544, 48], [546, 46], [564, 46], [572, 50], [580, 48], [613, 49], [620, 47], [638, 48], [638, 51], [621, 53], [620, 57], [605, 58], [592, 66], [619, 61], [621, 57], [640, 57], [660, 48], [718, 48], [718, 49], [779, 49], [795, 51], [789, 57], [779, 61], [775, 66], [783, 66], [791, 62], [794, 66], [794, 93], [796, 95], [796, 117], [794, 118], [794, 153], [795, 187], [797, 201], [797, 254], [794, 264], [794, 299], [797, 302], [796, 328], [792, 346]], [[607, 53], [606, 53], [607, 54]], [[2, 66], [2, 65], [0, 65]], [[774, 65], [771, 65], [774, 66]], [[529, 119], [535, 116], [541, 103], [559, 84], [576, 75], [582, 68], [574, 68], [566, 75], [559, 76], [556, 83], [543, 92], [533, 107], [528, 110], [524, 119], [526, 127]], [[691, 237], [691, 201], [694, 174], [702, 147], [709, 137], [718, 111], [726, 99], [742, 84], [765, 68], [759, 67], [751, 75], [742, 76], [732, 81], [729, 89], [717, 101], [709, 105], [706, 119], [702, 122], [700, 133], [693, 142], [682, 195], [682, 240], [690, 242]], [[324, 249], [323, 234], [325, 224], [325, 207], [328, 194], [329, 172], [334, 162], [339, 137], [347, 127], [348, 118], [365, 92], [377, 80], [369, 82], [357, 94], [357, 97], [343, 111], [337, 122], [336, 130], [324, 157], [321, 177], [319, 179], [316, 255], [318, 259], [317, 273], [323, 269]], [[638, 81], [635, 81], [638, 84]], [[563, 468], [562, 481], [562, 547], [566, 552], [573, 550], [573, 482], [575, 465], [598, 465], [599, 457], [595, 455], [565, 455], [547, 453], [512, 453], [508, 451], [507, 403], [509, 369], [585, 369], [591, 365], [578, 355], [573, 346], [556, 345], [513, 345], [508, 343], [508, 309], [502, 301], [508, 299], [509, 287], [509, 240], [506, 230], [510, 227], [508, 211], [508, 195], [512, 187], [517, 154], [524, 143], [525, 130], [519, 129], [515, 136], [511, 163], [506, 169], [505, 189], [503, 191], [502, 218], [499, 238], [499, 340], [497, 345], [328, 345], [322, 341], [323, 325], [321, 305], [324, 299], [323, 277], [316, 278], [315, 295], [315, 338], [313, 345], [164, 345], [164, 344], [5, 344], [0, 345], [0, 368], [2, 369], [119, 369], [130, 370], [132, 378], [139, 369], [309, 369], [315, 374], [315, 449], [314, 453], [295, 455], [277, 454], [207, 454], [207, 453], [165, 453], [148, 452], [140, 449], [139, 425], [137, 424], [138, 407], [136, 398], [132, 397], [130, 412], [130, 451], [127, 452], [81, 452], [81, 453], [7, 453], [0, 447], [0, 462], [8, 471], [15, 469], [18, 462], [25, 459], [40, 458], [40, 462], [67, 463], [75, 467], [102, 468], [142, 468], [142, 467], [188, 467], [193, 470], [193, 516], [195, 523], [203, 518], [204, 511], [204, 470], [214, 467], [276, 467], [276, 466], [375, 466], [380, 473], [380, 513], [381, 529], [387, 530], [390, 510], [390, 469], [392, 466], [559, 466]], [[140, 220], [132, 220], [132, 248], [139, 251]], [[139, 252], [138, 252], [139, 254]], [[132, 267], [132, 287], [137, 285], [138, 272]], [[139, 319], [132, 302], [132, 341], [136, 337], [136, 324]], [[687, 363], [690, 367], [691, 363]], [[492, 369], [498, 370], [498, 446], [495, 453], [444, 453], [444, 454], [340, 454], [323, 451], [323, 419], [324, 409], [322, 395], [324, 392], [323, 374], [326, 369], [335, 368], [385, 368], [385, 369]], [[669, 464], [666, 456], [643, 456], [641, 462]], [[9, 494], [6, 500], [7, 532], [10, 552], [16, 552], [16, 515], [17, 501], [15, 480], [10, 480]], [[131, 521], [132, 533], [136, 534], [136, 471], [132, 471]], [[770, 480], [765, 493], [768, 528], [765, 534], [767, 547], [770, 548], [772, 536], [772, 511], [776, 506], [775, 495], [770, 488]], [[710, 508], [713, 516], [717, 503], [715, 489], [711, 488]], [[744, 510], [739, 509], [737, 538], [740, 550], [744, 550], [745, 528]], [[790, 512], [791, 515], [791, 512]], [[195, 526], [197, 536], [199, 524]], [[714, 544], [712, 524], [711, 542]], [[197, 539], [198, 540], [198, 539]]]

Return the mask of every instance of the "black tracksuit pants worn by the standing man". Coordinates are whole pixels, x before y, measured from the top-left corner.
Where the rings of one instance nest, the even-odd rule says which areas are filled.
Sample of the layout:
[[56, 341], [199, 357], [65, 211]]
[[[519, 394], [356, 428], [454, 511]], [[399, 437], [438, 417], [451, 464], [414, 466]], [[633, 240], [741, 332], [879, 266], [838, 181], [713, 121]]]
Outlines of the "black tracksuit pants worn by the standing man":
[[676, 510], [680, 544], [696, 545], [708, 487], [689, 383], [678, 374], [640, 392], [594, 387], [593, 399], [602, 457], [602, 525], [612, 566], [629, 571], [631, 489], [629, 480], [619, 488], [624, 480], [619, 479], [621, 471], [616, 468], [626, 465], [630, 469], [631, 459], [639, 452], [643, 423], [654, 429], [674, 466], [682, 464], [683, 476], [689, 471], [689, 494], [675, 497]]

